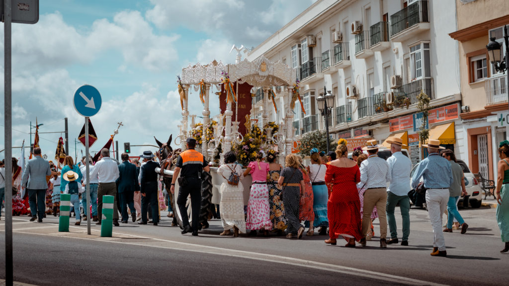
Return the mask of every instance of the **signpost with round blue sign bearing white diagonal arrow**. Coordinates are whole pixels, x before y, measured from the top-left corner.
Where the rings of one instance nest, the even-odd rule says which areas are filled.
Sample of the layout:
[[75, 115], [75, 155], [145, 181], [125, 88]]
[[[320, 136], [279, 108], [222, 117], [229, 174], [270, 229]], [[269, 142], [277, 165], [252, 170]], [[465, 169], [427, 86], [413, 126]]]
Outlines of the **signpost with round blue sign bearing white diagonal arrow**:
[[[102, 99], [99, 91], [92, 85], [81, 85], [74, 93], [74, 108], [76, 111], [85, 117], [85, 158], [87, 164], [85, 165], [86, 182], [87, 182], [87, 233], [90, 235], [90, 166], [89, 166], [89, 120], [99, 112], [101, 108]], [[101, 219], [101, 218], [99, 218]]]

